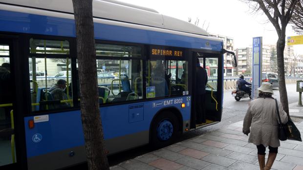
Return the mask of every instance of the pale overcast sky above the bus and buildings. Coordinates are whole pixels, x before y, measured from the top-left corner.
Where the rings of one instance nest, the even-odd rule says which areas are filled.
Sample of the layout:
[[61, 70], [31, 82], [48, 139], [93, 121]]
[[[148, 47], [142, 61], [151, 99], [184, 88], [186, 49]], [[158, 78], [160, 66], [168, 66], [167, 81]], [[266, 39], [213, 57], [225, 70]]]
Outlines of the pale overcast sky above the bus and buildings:
[[[208, 32], [234, 38], [235, 48], [248, 47], [253, 37], [263, 37], [263, 44], [276, 44], [278, 36], [271, 22], [264, 14], [253, 15], [249, 6], [239, 0], [123, 0], [131, 4], [145, 6], [159, 13], [177, 19], [195, 22]], [[297, 36], [290, 24], [287, 36]], [[295, 53], [303, 55], [303, 45], [296, 45]]]

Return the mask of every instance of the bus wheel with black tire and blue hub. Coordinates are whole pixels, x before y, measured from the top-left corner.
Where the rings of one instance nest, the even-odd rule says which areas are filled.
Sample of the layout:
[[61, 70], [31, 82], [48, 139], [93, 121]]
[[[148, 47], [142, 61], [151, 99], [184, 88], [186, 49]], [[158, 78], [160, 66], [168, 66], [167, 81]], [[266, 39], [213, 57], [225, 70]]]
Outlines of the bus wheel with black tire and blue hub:
[[163, 148], [171, 145], [178, 134], [178, 119], [169, 111], [159, 113], [151, 124], [151, 146]]

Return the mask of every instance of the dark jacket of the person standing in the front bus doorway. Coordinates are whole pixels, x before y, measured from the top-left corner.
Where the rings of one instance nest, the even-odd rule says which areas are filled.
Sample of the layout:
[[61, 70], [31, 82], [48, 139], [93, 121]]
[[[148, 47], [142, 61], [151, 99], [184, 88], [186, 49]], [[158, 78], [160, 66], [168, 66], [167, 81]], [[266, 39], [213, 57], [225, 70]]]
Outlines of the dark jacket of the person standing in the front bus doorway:
[[206, 70], [200, 66], [196, 66], [196, 92], [197, 92], [197, 94], [205, 94], [206, 83], [207, 83]]

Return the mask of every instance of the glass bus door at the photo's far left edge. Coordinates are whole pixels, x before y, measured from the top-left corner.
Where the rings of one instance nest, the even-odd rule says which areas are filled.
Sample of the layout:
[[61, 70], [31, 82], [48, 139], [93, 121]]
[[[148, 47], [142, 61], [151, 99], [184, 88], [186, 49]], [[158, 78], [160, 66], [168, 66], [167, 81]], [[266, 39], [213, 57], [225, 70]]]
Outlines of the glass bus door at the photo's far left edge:
[[11, 41], [0, 40], [0, 168], [16, 162], [11, 54]]

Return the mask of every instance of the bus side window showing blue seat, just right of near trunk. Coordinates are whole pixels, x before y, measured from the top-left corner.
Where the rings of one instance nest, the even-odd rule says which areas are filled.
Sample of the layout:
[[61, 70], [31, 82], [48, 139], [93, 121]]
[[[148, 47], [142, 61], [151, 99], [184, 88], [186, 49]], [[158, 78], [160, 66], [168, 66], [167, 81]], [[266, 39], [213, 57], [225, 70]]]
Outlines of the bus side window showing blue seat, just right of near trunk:
[[143, 98], [141, 47], [96, 43], [96, 55], [100, 104]]

